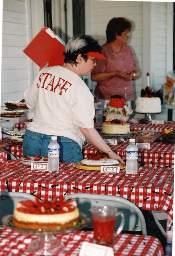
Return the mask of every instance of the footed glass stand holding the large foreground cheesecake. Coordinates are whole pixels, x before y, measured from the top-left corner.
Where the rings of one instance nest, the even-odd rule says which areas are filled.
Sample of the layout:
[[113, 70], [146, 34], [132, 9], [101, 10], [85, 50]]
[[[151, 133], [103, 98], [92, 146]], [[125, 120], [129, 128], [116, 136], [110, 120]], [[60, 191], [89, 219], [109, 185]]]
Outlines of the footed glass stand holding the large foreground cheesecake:
[[[55, 235], [67, 234], [70, 232], [78, 231], [90, 222], [90, 219], [84, 213], [80, 213], [80, 222], [74, 227], [68, 228], [57, 228], [57, 229], [28, 229], [28, 228], [16, 228], [12, 225], [13, 215], [6, 215], [3, 217], [3, 225], [10, 228], [11, 230], [25, 234], [25, 235], [36, 235], [38, 239], [32, 241], [27, 251], [23, 255], [28, 253], [37, 253], [43, 256], [56, 256], [59, 252], [62, 252], [65, 248], [63, 242], [58, 240]], [[26, 254], [25, 254], [26, 253]]]

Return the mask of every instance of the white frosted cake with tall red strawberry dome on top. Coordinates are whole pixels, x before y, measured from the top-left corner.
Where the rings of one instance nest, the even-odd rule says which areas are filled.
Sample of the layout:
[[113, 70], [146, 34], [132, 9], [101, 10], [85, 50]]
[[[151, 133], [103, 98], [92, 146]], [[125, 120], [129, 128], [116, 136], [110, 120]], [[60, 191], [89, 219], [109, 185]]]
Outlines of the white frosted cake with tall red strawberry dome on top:
[[126, 122], [133, 110], [126, 105], [125, 99], [119, 95], [111, 96], [108, 106], [105, 108], [104, 116], [106, 120], [118, 119]]

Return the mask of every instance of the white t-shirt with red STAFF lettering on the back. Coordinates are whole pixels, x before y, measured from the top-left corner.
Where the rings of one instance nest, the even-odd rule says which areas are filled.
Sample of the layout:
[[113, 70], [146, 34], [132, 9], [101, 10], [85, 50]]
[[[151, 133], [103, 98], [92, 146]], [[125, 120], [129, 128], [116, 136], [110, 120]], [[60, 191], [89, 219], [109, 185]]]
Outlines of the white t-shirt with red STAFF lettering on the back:
[[79, 127], [94, 127], [94, 96], [74, 72], [61, 66], [44, 68], [23, 94], [26, 105], [35, 109], [27, 129], [64, 136], [82, 148]]

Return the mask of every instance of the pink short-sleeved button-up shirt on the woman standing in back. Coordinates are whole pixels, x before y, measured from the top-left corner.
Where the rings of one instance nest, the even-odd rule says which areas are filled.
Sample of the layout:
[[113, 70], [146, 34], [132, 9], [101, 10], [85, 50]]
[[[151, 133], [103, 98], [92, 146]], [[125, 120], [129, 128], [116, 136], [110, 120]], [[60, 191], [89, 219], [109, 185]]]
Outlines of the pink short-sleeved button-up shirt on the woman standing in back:
[[[103, 55], [107, 60], [97, 60], [96, 67], [92, 73], [126, 71], [133, 72], [137, 69], [136, 61], [133, 52], [129, 46], [123, 45], [120, 53], [108, 42], [102, 45]], [[134, 100], [133, 96], [133, 81], [125, 81], [117, 76], [110, 79], [97, 82], [95, 87], [95, 95], [99, 99], [110, 100], [110, 96], [115, 94], [121, 95], [125, 100]]]

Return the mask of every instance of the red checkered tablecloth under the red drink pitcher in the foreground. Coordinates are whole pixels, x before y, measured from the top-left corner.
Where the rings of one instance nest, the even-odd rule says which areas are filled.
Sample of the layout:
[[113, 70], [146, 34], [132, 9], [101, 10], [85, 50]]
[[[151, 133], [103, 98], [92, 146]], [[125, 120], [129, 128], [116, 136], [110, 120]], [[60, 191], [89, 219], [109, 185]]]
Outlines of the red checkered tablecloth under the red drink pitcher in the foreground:
[[[23, 235], [12, 231], [10, 228], [0, 226], [0, 255], [22, 256], [28, 245], [37, 239], [38, 236]], [[65, 245], [65, 250], [58, 253], [58, 256], [79, 256], [82, 243], [93, 243], [93, 231], [77, 231], [65, 235], [58, 235]], [[137, 255], [137, 256], [164, 256], [164, 251], [160, 241], [153, 236], [142, 236], [133, 234], [119, 234], [115, 238], [115, 243], [110, 245], [114, 255]], [[28, 252], [28, 256], [35, 253]], [[37, 252], [37, 255], [41, 255]]]

